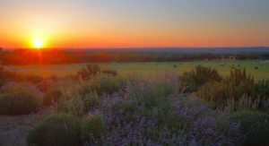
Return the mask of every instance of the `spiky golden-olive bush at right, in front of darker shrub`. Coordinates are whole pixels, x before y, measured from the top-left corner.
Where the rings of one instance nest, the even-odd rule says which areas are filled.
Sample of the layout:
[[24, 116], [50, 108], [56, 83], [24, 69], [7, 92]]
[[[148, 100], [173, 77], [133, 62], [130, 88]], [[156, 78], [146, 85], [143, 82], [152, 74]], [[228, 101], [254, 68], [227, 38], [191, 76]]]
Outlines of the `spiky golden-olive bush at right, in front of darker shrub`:
[[[208, 82], [204, 84], [199, 90], [196, 91], [196, 95], [206, 99], [213, 103], [214, 107], [226, 107], [228, 105], [228, 101], [232, 100], [233, 109], [236, 109], [240, 106], [250, 106], [253, 107], [256, 105], [260, 105], [260, 108], [263, 108], [265, 103], [265, 98], [259, 98], [255, 93], [261, 90], [261, 94], [265, 95], [266, 93], [266, 83], [257, 83], [256, 89], [253, 77], [251, 75], [247, 75], [246, 70], [241, 69], [231, 69], [230, 75], [227, 76], [222, 82]], [[249, 99], [248, 97], [252, 97]], [[247, 98], [247, 99], [242, 99]], [[247, 102], [249, 103], [247, 103]], [[245, 102], [245, 103], [239, 103]], [[246, 105], [247, 104], [247, 105]], [[258, 109], [259, 107], [256, 107]]]

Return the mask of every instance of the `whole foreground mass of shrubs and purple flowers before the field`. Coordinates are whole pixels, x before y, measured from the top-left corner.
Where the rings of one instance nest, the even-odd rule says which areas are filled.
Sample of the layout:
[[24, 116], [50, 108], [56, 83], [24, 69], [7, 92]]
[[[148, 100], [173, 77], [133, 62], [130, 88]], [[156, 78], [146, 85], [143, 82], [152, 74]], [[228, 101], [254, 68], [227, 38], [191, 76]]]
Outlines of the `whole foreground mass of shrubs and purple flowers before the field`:
[[53, 110], [30, 129], [29, 145], [269, 144], [269, 81], [245, 69], [145, 77], [88, 64], [62, 78], [1, 74], [1, 115]]

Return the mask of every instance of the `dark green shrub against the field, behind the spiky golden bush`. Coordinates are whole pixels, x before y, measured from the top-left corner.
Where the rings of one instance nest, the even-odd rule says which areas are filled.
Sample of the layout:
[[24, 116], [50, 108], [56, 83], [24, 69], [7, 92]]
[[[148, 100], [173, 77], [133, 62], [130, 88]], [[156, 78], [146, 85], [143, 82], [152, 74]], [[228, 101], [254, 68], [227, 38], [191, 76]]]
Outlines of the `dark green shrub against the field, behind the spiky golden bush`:
[[202, 65], [198, 65], [194, 71], [182, 75], [182, 85], [190, 91], [198, 90], [206, 82], [221, 82], [221, 80], [221, 75], [217, 70]]

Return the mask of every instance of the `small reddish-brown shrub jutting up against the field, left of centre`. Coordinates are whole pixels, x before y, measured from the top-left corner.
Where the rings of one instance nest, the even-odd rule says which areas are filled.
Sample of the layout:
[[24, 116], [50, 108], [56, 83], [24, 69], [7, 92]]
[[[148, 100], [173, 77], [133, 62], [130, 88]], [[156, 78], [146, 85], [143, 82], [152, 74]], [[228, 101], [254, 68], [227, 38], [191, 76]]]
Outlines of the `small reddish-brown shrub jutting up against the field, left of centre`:
[[100, 66], [98, 64], [87, 64], [77, 73], [82, 80], [91, 80], [100, 74]]

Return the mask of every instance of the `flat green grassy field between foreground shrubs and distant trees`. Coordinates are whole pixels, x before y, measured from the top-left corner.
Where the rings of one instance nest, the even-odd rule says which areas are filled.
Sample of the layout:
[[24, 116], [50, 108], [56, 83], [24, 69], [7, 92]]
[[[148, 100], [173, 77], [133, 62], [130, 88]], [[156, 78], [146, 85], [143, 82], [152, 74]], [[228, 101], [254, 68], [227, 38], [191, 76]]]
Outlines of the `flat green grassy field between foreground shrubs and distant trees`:
[[[230, 73], [232, 66], [246, 68], [247, 73], [254, 75], [256, 80], [269, 79], [269, 64], [261, 61], [193, 61], [193, 62], [149, 62], [149, 63], [100, 63], [102, 70], [117, 70], [119, 74], [141, 73], [150, 75], [162, 71], [184, 73], [191, 71], [196, 65], [202, 64], [217, 69], [222, 75]], [[86, 64], [56, 64], [56, 65], [6, 65], [9, 71], [41, 75], [65, 76], [75, 74]], [[257, 67], [257, 69], [255, 69]]]

